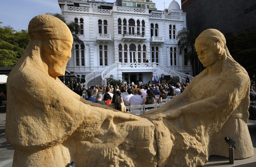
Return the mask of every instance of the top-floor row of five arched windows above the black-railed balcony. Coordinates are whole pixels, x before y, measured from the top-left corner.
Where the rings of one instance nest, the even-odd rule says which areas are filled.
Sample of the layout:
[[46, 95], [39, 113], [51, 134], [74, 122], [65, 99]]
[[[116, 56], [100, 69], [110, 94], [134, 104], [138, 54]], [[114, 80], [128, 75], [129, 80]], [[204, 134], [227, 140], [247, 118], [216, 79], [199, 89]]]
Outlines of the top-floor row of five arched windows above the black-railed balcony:
[[140, 22], [140, 20], [137, 20], [136, 23], [133, 19], [129, 19], [128, 20], [128, 27], [127, 27], [127, 20], [123, 19], [123, 24], [122, 24], [122, 20], [119, 18], [117, 20], [118, 22], [118, 34], [142, 34], [145, 35], [145, 21], [142, 20]]

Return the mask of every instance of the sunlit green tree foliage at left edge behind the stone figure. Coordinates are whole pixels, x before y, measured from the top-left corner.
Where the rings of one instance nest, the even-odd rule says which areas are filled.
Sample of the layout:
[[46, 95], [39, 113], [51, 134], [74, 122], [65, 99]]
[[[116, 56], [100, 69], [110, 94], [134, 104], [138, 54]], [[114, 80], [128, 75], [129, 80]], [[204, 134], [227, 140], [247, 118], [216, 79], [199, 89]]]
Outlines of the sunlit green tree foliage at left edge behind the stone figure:
[[16, 31], [10, 26], [0, 26], [0, 66], [15, 66], [29, 40], [27, 30]]

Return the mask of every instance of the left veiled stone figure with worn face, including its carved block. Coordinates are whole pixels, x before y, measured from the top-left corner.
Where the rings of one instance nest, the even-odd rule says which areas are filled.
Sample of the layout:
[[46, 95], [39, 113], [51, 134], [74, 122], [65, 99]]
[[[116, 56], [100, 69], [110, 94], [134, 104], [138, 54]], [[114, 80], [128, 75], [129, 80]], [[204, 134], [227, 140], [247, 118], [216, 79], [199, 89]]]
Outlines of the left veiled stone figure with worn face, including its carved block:
[[13, 166], [156, 166], [153, 123], [84, 100], [57, 78], [71, 57], [66, 24], [39, 15], [30, 21], [29, 35], [7, 81], [6, 139], [15, 148]]

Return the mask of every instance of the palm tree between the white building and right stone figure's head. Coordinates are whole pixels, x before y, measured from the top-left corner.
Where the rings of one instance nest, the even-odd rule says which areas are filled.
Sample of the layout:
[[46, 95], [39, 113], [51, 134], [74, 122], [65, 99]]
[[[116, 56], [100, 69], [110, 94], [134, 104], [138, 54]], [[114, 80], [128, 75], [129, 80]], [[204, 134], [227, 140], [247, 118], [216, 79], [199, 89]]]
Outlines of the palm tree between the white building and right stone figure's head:
[[203, 70], [202, 63], [198, 59], [197, 52], [195, 52], [195, 39], [200, 33], [201, 32], [199, 32], [198, 29], [195, 29], [194, 27], [192, 27], [191, 32], [182, 29], [177, 33], [177, 38], [179, 40], [179, 54], [181, 54], [185, 48], [188, 50], [191, 49], [191, 51], [187, 53], [187, 59], [191, 63], [193, 76], [198, 75]]

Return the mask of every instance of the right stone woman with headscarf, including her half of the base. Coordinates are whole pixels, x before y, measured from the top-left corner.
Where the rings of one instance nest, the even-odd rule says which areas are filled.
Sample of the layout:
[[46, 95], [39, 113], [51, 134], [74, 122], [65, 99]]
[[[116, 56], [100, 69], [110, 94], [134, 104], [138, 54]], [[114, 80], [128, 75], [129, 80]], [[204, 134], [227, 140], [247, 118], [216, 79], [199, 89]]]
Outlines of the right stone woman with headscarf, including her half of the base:
[[210, 155], [228, 157], [226, 136], [237, 142], [235, 159], [253, 156], [246, 70], [231, 57], [216, 29], [203, 31], [195, 48], [207, 68], [183, 93], [143, 114], [155, 125], [158, 166], [202, 166]]

